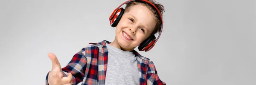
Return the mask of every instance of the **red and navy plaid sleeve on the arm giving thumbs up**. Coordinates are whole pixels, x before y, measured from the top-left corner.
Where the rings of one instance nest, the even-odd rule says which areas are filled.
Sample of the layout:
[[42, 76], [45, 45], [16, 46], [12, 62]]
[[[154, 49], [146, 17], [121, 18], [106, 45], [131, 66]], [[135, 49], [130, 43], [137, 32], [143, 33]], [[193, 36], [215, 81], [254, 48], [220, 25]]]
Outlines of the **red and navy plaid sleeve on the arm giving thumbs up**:
[[[68, 73], [73, 76], [73, 85], [79, 84], [84, 79], [84, 71], [86, 69], [87, 59], [85, 57], [85, 48], [77, 52], [70, 62], [62, 69], [63, 77], [67, 77]], [[46, 76], [46, 85], [48, 84], [48, 75]]]

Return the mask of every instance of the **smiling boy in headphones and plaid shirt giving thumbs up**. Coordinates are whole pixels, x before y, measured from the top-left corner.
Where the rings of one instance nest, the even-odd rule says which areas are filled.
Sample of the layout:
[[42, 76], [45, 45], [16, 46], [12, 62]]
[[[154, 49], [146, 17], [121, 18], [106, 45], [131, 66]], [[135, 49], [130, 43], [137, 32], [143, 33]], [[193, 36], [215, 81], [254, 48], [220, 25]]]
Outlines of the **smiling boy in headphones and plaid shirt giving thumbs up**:
[[123, 4], [125, 10], [119, 6], [110, 17], [111, 26], [116, 27], [113, 42], [104, 40], [82, 48], [64, 68], [54, 54], [48, 54], [52, 70], [46, 85], [166, 85], [154, 63], [134, 50], [139, 46], [140, 51], [149, 51], [154, 46], [159, 38], [155, 40], [154, 34], [162, 31], [164, 7], [152, 0]]

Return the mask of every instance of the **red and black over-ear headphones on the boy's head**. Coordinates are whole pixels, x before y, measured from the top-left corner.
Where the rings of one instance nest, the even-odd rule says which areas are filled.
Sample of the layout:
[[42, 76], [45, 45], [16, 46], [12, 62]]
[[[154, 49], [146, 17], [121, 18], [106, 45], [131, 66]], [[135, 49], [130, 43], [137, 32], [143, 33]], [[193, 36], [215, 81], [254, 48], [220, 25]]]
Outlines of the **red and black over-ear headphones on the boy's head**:
[[124, 3], [122, 3], [119, 7], [117, 7], [113, 13], [111, 14], [111, 16], [109, 17], [109, 20], [110, 20], [110, 25], [112, 27], [116, 27], [117, 24], [119, 23], [119, 21], [121, 20], [121, 17], [122, 15], [124, 14], [125, 12], [125, 9], [124, 8], [120, 8], [122, 5], [126, 4], [126, 3], [129, 3], [131, 1], [137, 1], [137, 2], [141, 2], [141, 3], [148, 3], [149, 5], [151, 5], [156, 11], [157, 11], [157, 14], [158, 14], [158, 18], [160, 19], [161, 21], [161, 30], [160, 30], [160, 34], [159, 36], [156, 37], [154, 35], [151, 35], [150, 37], [148, 37], [148, 39], [144, 40], [142, 43], [140, 43], [138, 49], [139, 51], [149, 51], [151, 48], [154, 47], [155, 43], [157, 42], [157, 40], [159, 39], [159, 37], [161, 36], [161, 33], [162, 33], [162, 30], [163, 30], [163, 19], [162, 19], [162, 15], [160, 13], [160, 11], [157, 9], [156, 6], [154, 6], [153, 3], [147, 1], [147, 0], [128, 0]]

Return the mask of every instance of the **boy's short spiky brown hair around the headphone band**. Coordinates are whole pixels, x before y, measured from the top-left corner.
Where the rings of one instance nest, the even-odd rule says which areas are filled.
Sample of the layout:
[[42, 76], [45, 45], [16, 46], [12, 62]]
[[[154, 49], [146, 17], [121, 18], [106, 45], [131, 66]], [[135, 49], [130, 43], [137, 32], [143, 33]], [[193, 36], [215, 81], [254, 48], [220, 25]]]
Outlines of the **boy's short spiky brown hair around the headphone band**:
[[[165, 12], [165, 9], [164, 9], [164, 6], [161, 5], [159, 2], [157, 1], [154, 1], [154, 0], [148, 0], [149, 2], [153, 3], [154, 6], [157, 7], [157, 9], [160, 11], [160, 14], [161, 14], [161, 18], [163, 18], [163, 12]], [[146, 6], [147, 8], [149, 8], [151, 10], [151, 12], [154, 14], [154, 18], [156, 20], [156, 25], [154, 27], [154, 30], [152, 31], [151, 35], [154, 35], [156, 34], [157, 32], [160, 32], [161, 30], [161, 21], [159, 20], [159, 16], [158, 14], [156, 13], [157, 11], [154, 9], [154, 7], [152, 7], [151, 5], [149, 5], [148, 3], [141, 3], [141, 2], [137, 2], [137, 1], [132, 1], [132, 2], [129, 2], [129, 3], [126, 3], [126, 7], [125, 7], [125, 11], [130, 11], [131, 7], [135, 6], [135, 5], [143, 5], [143, 6]]]

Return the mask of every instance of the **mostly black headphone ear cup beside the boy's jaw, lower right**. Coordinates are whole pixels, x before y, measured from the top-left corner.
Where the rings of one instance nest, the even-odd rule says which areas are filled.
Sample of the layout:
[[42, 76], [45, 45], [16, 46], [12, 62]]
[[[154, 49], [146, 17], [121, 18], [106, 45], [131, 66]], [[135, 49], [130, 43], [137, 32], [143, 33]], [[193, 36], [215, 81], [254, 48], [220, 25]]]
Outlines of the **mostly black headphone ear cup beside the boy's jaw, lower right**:
[[154, 42], [156, 37], [154, 35], [148, 37], [148, 39], [144, 40], [142, 43], [140, 43], [138, 49], [139, 51], [144, 51], [148, 49]]

